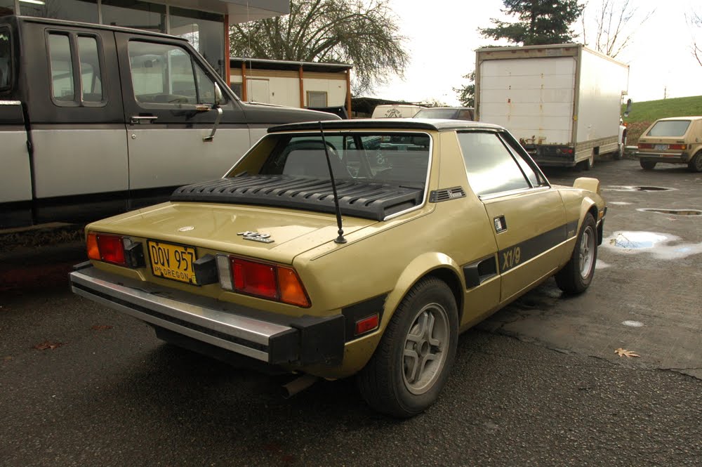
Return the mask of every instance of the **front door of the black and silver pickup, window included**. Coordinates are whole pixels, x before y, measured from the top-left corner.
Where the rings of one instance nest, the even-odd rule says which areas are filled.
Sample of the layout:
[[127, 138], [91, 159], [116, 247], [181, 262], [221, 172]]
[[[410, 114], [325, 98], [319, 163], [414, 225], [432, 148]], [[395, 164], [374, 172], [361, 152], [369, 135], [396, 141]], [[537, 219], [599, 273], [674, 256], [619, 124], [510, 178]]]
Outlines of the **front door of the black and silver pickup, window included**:
[[[117, 32], [132, 198], [219, 178], [251, 146], [239, 103], [224, 93], [214, 110], [214, 84], [223, 81], [184, 41]], [[226, 91], [226, 90], [223, 90]], [[132, 206], [134, 207], [134, 206]]]

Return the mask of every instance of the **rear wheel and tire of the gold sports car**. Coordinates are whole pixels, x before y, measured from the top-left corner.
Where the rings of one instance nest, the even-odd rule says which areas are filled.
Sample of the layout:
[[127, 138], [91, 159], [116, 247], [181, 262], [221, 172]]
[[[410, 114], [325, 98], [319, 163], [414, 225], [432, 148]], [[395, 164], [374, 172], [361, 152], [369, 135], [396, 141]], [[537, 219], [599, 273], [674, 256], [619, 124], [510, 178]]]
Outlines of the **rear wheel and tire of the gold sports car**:
[[456, 357], [458, 309], [445, 282], [420, 280], [397, 307], [375, 353], [357, 374], [364, 400], [406, 419], [437, 400]]

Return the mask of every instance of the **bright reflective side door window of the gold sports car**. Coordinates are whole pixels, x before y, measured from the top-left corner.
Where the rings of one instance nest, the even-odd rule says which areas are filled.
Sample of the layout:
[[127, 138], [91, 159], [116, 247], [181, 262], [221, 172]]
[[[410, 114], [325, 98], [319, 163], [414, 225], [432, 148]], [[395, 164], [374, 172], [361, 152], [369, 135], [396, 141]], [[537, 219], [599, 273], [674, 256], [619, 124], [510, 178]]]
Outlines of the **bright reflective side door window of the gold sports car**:
[[458, 133], [468, 183], [478, 196], [530, 188], [527, 178], [496, 133]]

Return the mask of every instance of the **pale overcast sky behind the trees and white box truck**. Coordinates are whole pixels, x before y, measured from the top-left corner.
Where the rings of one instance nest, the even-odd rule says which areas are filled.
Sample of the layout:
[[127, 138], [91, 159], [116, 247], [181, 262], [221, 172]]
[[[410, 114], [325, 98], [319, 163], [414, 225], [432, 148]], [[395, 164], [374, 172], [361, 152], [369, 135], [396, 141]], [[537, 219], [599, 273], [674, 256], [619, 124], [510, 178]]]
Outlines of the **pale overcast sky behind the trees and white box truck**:
[[[586, 20], [595, 15], [602, 0], [589, 3]], [[702, 1], [630, 0], [630, 4], [638, 8], [637, 18], [627, 29], [635, 31], [633, 41], [616, 57], [630, 65], [629, 98], [635, 102], [662, 99], [665, 92], [669, 98], [702, 96], [702, 66], [691, 55], [693, 30], [684, 17], [693, 6], [702, 12]], [[477, 28], [489, 27], [490, 18], [502, 18], [503, 2], [431, 0], [420, 5], [418, 0], [390, 0], [390, 6], [407, 37], [411, 62], [404, 79], [394, 77], [369, 96], [415, 102], [434, 98], [458, 105], [452, 88], [467, 82], [461, 77], [474, 70], [475, 49], [494, 44], [484, 39]], [[654, 9], [654, 15], [642, 24], [644, 13]], [[573, 29], [579, 33], [582, 27], [578, 23]], [[697, 34], [702, 42], [702, 28]], [[594, 33], [585, 35], [588, 41], [590, 37], [594, 39]]]

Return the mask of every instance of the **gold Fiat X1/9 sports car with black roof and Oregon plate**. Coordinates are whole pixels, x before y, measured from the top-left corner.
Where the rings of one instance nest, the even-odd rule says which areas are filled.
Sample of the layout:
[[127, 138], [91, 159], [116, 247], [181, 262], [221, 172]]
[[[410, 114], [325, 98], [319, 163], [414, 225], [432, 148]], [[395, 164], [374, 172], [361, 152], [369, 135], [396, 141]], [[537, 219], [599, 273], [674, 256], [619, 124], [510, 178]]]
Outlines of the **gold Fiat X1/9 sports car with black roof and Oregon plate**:
[[371, 407], [408, 417], [461, 331], [553, 275], [588, 288], [606, 211], [598, 180], [551, 185], [500, 126], [289, 124], [223, 178], [88, 225], [71, 284], [186, 348], [356, 375]]

